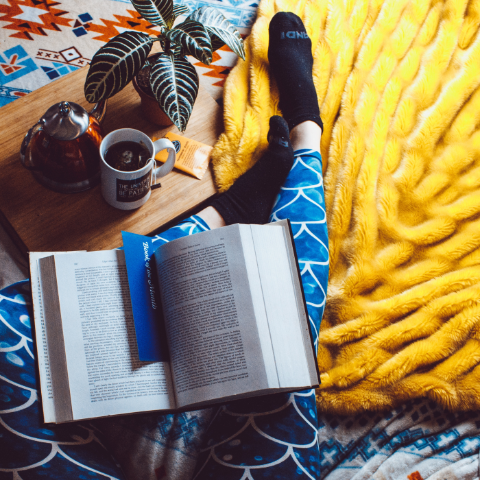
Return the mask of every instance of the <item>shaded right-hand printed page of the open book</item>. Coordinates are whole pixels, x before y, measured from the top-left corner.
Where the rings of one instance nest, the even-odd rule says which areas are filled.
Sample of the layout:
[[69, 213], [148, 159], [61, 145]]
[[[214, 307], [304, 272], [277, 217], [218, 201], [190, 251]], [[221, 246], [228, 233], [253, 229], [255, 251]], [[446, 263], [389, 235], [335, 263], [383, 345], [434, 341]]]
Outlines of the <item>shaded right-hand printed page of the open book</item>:
[[239, 226], [155, 252], [178, 407], [268, 388]]

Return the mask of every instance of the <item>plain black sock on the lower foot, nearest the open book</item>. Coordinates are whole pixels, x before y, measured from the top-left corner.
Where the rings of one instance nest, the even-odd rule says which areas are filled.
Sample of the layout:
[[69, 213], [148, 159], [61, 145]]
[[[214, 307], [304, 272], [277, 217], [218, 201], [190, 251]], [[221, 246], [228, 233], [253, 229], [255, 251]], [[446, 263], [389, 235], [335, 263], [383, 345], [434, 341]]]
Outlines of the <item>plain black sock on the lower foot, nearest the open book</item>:
[[265, 224], [275, 197], [293, 165], [288, 125], [282, 117], [270, 119], [268, 149], [260, 160], [213, 200], [227, 225]]

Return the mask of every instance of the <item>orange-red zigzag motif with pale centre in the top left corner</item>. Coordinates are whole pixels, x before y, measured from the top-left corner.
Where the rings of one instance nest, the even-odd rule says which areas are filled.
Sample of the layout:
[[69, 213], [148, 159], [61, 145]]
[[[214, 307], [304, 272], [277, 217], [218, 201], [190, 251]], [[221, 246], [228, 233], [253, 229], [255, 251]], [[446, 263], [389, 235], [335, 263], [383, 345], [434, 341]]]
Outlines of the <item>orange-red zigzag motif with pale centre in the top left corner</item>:
[[[47, 36], [45, 30], [61, 31], [58, 25], [70, 27], [70, 22], [73, 21], [63, 16], [69, 12], [53, 8], [55, 5], [60, 5], [58, 1], [8, 0], [8, 3], [10, 5], [0, 4], [0, 14], [3, 14], [0, 20], [10, 22], [3, 28], [16, 30], [16, 33], [10, 37], [33, 40], [32, 34]], [[25, 19], [25, 16], [28, 19]]]

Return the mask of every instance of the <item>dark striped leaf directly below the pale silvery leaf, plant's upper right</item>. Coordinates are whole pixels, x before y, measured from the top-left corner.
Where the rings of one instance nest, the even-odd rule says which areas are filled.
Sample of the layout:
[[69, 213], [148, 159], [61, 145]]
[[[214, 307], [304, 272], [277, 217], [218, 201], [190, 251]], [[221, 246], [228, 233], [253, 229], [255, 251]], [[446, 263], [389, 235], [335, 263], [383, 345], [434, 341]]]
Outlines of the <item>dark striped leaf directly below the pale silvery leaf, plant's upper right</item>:
[[172, 43], [182, 45], [182, 50], [208, 65], [212, 61], [210, 36], [202, 23], [187, 20], [165, 33]]

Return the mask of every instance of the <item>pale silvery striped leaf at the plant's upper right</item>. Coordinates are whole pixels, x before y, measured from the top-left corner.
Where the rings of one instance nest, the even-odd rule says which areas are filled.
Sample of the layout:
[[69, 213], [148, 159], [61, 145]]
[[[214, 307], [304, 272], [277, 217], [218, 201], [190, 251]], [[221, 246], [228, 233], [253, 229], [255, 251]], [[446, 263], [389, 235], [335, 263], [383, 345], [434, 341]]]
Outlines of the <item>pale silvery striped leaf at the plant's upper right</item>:
[[187, 17], [188, 20], [195, 20], [204, 25], [211, 37], [214, 50], [226, 44], [245, 60], [245, 49], [239, 31], [215, 7], [204, 6], [199, 8]]

